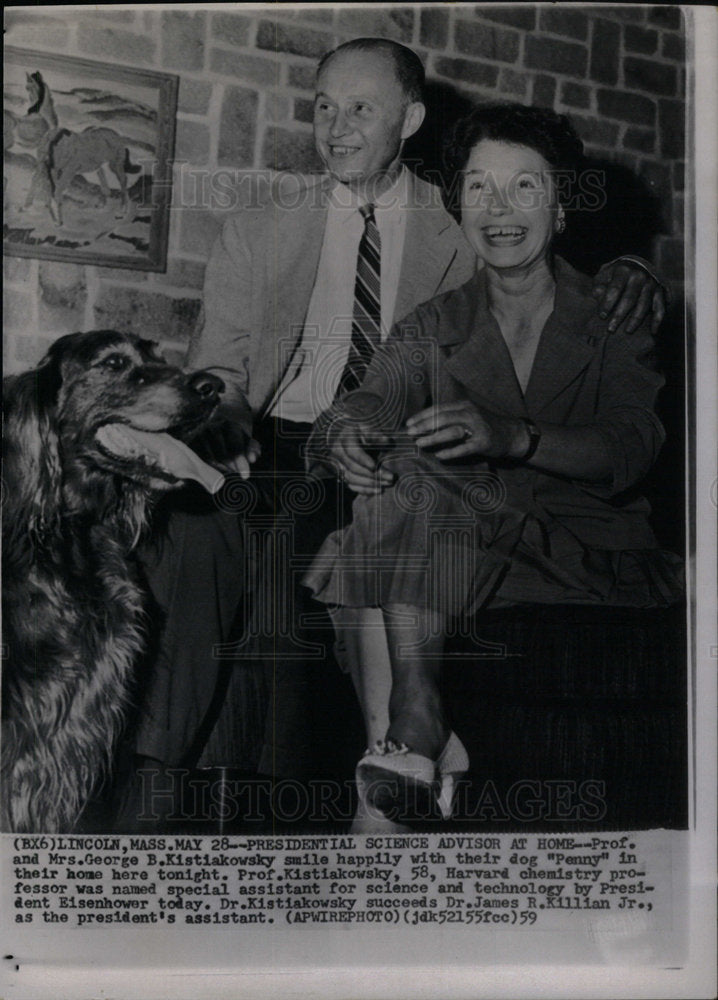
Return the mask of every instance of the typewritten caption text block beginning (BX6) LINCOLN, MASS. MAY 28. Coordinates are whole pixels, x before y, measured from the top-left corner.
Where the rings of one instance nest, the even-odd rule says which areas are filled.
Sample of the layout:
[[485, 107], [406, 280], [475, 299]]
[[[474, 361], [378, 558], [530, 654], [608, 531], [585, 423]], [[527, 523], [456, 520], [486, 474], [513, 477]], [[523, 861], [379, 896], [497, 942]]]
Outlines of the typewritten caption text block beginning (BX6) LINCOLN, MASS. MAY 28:
[[[376, 837], [16, 836], [16, 924], [538, 928], [648, 917], [641, 833]], [[655, 869], [655, 865], [654, 865]], [[651, 918], [649, 918], [651, 919]]]

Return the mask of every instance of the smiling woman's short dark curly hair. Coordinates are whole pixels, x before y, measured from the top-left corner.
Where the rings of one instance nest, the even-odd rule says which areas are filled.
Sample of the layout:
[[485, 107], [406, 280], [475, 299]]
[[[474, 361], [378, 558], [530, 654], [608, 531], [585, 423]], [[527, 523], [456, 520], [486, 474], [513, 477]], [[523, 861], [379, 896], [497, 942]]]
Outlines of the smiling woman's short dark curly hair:
[[578, 173], [583, 160], [583, 143], [566, 115], [525, 104], [479, 105], [455, 123], [444, 142], [447, 200], [454, 210], [461, 197], [462, 172], [482, 139], [535, 149], [567, 177], [571, 171]]

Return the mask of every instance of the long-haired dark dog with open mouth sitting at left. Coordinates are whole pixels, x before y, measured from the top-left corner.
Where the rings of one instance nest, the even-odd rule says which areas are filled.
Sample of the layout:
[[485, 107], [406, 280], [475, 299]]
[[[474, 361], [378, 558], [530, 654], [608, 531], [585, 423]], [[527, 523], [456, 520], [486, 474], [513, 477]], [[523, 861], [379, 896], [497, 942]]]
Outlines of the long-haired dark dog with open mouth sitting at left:
[[112, 330], [62, 337], [5, 379], [4, 829], [73, 829], [107, 771], [144, 645], [129, 556], [152, 497], [178, 480], [113, 454], [98, 431], [187, 441], [222, 389]]

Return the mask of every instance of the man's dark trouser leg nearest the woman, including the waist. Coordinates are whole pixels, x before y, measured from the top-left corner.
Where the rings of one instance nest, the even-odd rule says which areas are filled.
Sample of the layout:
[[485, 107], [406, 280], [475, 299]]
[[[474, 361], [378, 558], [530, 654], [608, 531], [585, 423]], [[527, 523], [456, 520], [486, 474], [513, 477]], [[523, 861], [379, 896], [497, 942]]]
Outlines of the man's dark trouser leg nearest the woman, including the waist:
[[331, 621], [301, 585], [327, 535], [351, 519], [353, 500], [335, 478], [305, 474], [310, 430], [268, 419], [255, 431], [261, 503], [245, 520], [248, 542], [257, 534], [253, 548], [263, 554], [254, 615], [270, 704], [259, 770], [280, 779], [350, 776], [356, 750], [348, 732], [356, 728], [361, 742], [354, 693], [332, 655]]

